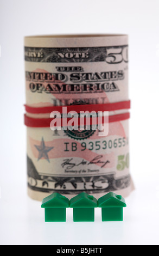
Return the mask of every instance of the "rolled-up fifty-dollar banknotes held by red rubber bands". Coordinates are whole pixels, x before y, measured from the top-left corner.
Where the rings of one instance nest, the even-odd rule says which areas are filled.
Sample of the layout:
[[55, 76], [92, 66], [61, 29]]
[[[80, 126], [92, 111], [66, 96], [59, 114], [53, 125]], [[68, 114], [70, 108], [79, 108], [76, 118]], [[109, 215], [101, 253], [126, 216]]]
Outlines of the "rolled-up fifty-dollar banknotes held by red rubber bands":
[[[29, 196], [128, 196], [128, 35], [26, 36], [24, 52]], [[51, 113], [61, 120], [63, 107], [108, 111], [109, 131], [99, 136], [93, 123], [52, 129]]]

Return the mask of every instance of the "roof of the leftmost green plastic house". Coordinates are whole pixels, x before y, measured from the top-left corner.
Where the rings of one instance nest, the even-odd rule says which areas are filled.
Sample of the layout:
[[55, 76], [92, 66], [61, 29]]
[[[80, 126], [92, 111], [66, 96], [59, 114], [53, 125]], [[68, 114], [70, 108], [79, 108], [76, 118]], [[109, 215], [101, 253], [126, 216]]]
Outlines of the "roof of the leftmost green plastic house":
[[50, 194], [43, 198], [41, 208], [68, 208], [69, 199], [59, 193]]

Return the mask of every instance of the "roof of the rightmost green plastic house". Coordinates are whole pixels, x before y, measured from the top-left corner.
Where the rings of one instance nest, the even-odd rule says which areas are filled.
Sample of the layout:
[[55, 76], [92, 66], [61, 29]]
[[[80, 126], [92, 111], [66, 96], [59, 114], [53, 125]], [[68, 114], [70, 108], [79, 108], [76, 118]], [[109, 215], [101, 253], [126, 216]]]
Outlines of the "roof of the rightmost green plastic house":
[[126, 204], [122, 196], [109, 192], [98, 199], [98, 207], [126, 207]]

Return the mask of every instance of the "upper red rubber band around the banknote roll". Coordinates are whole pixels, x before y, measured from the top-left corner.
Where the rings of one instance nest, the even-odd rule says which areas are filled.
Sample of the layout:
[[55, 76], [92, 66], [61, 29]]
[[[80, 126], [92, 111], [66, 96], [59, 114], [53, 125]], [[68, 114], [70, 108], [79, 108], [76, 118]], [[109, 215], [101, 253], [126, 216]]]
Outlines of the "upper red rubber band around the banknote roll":
[[58, 111], [62, 114], [62, 107], [67, 107], [67, 113], [69, 111], [75, 111], [79, 113], [80, 111], [116, 111], [119, 109], [129, 109], [130, 100], [128, 101], [119, 101], [115, 103], [106, 103], [106, 104], [85, 104], [85, 105], [68, 105], [68, 106], [51, 106], [51, 107], [29, 107], [24, 105], [26, 111], [32, 114], [45, 114], [51, 113], [52, 111]]

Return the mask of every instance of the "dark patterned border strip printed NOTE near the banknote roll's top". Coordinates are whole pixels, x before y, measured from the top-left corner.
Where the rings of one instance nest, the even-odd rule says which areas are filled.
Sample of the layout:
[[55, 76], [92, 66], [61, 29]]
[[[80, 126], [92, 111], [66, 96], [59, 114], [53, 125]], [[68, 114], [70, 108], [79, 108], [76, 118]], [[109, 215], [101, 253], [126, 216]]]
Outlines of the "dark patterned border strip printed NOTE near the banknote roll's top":
[[[128, 62], [123, 57], [117, 60], [117, 54], [123, 54], [128, 45], [102, 46], [102, 47], [24, 47], [24, 58], [27, 62], [43, 63], [83, 63], [83, 62], [107, 62], [118, 64]], [[110, 49], [120, 49], [119, 53], [108, 53]], [[67, 54], [68, 53], [68, 54]], [[78, 53], [78, 56], [74, 56]], [[79, 53], [83, 53], [79, 55]], [[63, 54], [60, 57], [59, 54]], [[67, 54], [67, 56], [66, 56]], [[108, 61], [109, 59], [109, 61]]]

